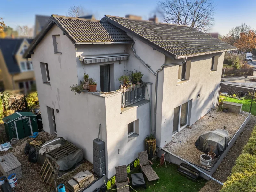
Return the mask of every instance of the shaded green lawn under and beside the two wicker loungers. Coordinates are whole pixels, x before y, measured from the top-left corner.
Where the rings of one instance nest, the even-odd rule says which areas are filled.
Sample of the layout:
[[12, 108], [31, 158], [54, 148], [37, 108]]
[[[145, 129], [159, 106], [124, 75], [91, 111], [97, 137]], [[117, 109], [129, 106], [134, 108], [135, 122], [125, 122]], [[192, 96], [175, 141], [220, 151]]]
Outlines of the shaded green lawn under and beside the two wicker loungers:
[[[196, 181], [190, 180], [187, 177], [181, 175], [177, 169], [178, 166], [175, 164], [167, 163], [167, 168], [165, 165], [159, 167], [160, 159], [157, 158], [153, 162], [153, 169], [155, 170], [156, 174], [159, 176], [158, 181], [152, 181], [147, 184], [147, 188], [134, 188], [138, 192], [165, 192], [165, 191], [172, 191], [172, 192], [196, 192], [199, 191], [207, 180], [202, 178], [198, 178]], [[131, 173], [138, 173], [139, 171], [135, 168]], [[131, 177], [129, 174], [130, 182]], [[145, 181], [146, 178], [144, 177]]]

